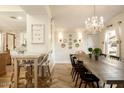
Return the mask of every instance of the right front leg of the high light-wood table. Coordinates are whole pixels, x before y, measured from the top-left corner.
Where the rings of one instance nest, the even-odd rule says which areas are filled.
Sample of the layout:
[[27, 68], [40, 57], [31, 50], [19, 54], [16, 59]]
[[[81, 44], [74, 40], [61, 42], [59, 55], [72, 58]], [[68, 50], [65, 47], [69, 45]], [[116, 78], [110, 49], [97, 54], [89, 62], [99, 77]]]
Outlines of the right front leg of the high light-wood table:
[[37, 88], [38, 86], [38, 71], [37, 71], [37, 66], [38, 66], [38, 60], [34, 60], [34, 87]]

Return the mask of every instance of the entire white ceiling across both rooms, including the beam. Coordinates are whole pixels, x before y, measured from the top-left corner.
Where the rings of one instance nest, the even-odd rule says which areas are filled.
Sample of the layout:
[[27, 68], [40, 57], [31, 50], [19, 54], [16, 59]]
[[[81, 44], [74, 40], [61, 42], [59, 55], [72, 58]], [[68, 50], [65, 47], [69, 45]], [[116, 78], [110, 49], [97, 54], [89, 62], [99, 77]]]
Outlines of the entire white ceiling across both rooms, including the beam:
[[[49, 10], [50, 8], [50, 10]], [[103, 16], [105, 22], [124, 10], [124, 6], [96, 6], [96, 15]], [[47, 14], [55, 20], [57, 28], [77, 29], [84, 27], [84, 21], [93, 15], [93, 6], [90, 5], [21, 5], [0, 6], [0, 30], [26, 30], [26, 14]], [[22, 20], [10, 18], [22, 16]]]

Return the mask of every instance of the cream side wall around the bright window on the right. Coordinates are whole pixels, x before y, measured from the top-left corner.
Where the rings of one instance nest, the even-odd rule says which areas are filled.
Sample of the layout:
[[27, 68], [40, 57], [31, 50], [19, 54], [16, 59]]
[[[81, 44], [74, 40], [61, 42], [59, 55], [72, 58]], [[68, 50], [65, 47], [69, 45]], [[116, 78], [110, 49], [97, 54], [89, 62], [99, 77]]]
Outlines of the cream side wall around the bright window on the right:
[[[121, 57], [122, 59], [124, 59], [124, 13], [120, 13], [117, 16], [113, 17], [111, 20], [109, 20], [106, 25], [111, 25], [112, 29], [115, 29], [117, 32], [119, 32], [119, 24], [118, 21], [122, 21], [122, 23], [120, 24], [120, 39], [121, 39]], [[107, 29], [106, 29], [107, 30]], [[101, 32], [99, 34], [99, 47], [101, 47], [103, 49], [103, 41], [104, 41], [104, 36], [105, 36], [105, 31]]]

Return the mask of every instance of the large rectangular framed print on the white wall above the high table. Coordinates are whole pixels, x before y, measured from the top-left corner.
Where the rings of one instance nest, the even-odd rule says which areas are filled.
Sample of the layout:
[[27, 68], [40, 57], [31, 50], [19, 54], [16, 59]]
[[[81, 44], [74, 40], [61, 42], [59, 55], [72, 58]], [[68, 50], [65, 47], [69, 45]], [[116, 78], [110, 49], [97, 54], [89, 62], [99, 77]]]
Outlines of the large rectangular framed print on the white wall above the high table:
[[32, 24], [32, 43], [44, 43], [45, 38], [45, 25], [44, 24]]

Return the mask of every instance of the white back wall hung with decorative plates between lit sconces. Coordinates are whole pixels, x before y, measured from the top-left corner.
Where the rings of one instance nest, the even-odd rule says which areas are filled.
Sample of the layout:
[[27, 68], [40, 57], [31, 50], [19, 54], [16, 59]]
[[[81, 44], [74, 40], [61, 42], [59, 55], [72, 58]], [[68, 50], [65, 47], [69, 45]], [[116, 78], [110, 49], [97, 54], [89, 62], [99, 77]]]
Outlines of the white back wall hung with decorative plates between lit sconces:
[[[70, 63], [70, 58], [69, 58], [69, 54], [71, 53], [75, 53], [76, 51], [84, 51], [86, 53], [88, 53], [87, 49], [89, 47], [98, 47], [98, 37], [97, 35], [87, 35], [84, 31], [80, 30], [80, 31], [63, 31], [63, 39], [67, 40], [67, 43], [65, 48], [61, 47], [61, 42], [59, 41], [58, 38], [58, 33], [61, 32], [60, 30], [57, 30], [54, 34], [54, 53], [55, 53], [55, 62], [56, 63]], [[81, 38], [81, 43], [80, 43], [80, 47], [75, 47], [75, 43], [73, 42], [74, 39], [78, 38], [78, 32], [81, 33], [82, 38]], [[69, 34], [72, 34], [72, 49], [69, 49]]]

